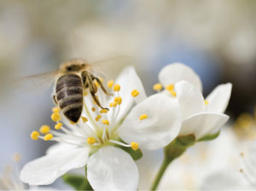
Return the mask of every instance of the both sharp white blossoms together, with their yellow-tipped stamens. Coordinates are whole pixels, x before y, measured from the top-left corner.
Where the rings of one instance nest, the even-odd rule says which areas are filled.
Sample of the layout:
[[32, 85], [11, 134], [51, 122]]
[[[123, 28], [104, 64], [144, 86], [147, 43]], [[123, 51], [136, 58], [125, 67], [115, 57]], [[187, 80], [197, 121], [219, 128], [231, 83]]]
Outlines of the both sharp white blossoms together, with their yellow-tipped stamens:
[[84, 90], [78, 123], [71, 123], [54, 107], [55, 130], [43, 125], [32, 132], [33, 140], [57, 143], [23, 167], [23, 182], [48, 185], [67, 171], [86, 166], [93, 189], [136, 190], [139, 172], [131, 152], [166, 148], [183, 136], [192, 135], [195, 142], [204, 140], [218, 134], [229, 119], [224, 111], [232, 85], [220, 84], [204, 98], [201, 79], [182, 63], [162, 68], [152, 96], [146, 95], [134, 67], [126, 67], [105, 84], [113, 96], [99, 89], [97, 97], [108, 109], [97, 107]]

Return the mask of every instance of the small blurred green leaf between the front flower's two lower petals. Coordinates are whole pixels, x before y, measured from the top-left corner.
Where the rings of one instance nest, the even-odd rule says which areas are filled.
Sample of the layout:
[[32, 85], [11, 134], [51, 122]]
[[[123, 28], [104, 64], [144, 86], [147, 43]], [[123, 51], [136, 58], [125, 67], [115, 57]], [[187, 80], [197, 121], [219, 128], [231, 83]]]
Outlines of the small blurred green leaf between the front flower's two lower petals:
[[86, 177], [75, 175], [75, 174], [65, 174], [62, 176], [64, 182], [69, 184], [76, 190], [92, 190], [90, 183]]

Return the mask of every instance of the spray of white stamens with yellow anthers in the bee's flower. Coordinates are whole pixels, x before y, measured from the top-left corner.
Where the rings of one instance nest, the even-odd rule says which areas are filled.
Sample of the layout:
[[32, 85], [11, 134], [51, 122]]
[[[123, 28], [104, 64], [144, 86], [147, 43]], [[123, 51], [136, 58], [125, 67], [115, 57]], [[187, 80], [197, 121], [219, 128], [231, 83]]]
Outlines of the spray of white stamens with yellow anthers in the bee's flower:
[[[130, 147], [133, 150], [138, 149], [137, 142], [131, 142], [126, 144], [121, 142], [119, 136], [117, 135], [117, 130], [122, 119], [118, 119], [120, 107], [122, 104], [122, 97], [119, 95], [121, 86], [119, 84], [114, 84], [113, 80], [108, 81], [108, 88], [113, 90], [113, 101], [109, 103], [108, 109], [101, 109], [96, 106], [96, 103], [91, 101], [92, 107], [88, 107], [91, 104], [85, 104], [87, 92], [84, 90], [84, 111], [78, 123], [67, 122], [67, 127], [64, 127], [60, 123], [61, 110], [58, 107], [52, 109], [51, 119], [55, 121], [55, 130], [51, 130], [49, 125], [42, 125], [39, 129], [32, 131], [32, 140], [42, 139], [44, 141], [55, 141], [63, 142], [67, 144], [76, 145], [83, 147], [87, 145], [89, 147], [102, 147], [108, 144], [118, 144], [123, 147]], [[139, 96], [138, 90], [132, 90], [131, 96]], [[102, 100], [104, 98], [102, 97]], [[86, 100], [87, 101], [87, 100]], [[146, 113], [142, 113], [138, 116], [138, 119], [144, 120], [148, 119]], [[64, 117], [63, 121], [67, 121]], [[119, 120], [119, 121], [118, 121]], [[59, 132], [61, 130], [62, 132]]]

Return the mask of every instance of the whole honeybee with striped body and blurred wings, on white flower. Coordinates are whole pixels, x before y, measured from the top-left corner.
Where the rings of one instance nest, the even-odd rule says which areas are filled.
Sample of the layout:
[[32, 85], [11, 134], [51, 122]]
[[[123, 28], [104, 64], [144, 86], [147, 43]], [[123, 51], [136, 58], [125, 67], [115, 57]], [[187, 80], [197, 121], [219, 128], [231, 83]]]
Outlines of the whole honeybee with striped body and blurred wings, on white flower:
[[[96, 102], [96, 105], [102, 109], [108, 110], [107, 107], [102, 106], [96, 96], [96, 92], [98, 90], [96, 83], [106, 95], [112, 96], [112, 94], [108, 93], [100, 78], [96, 76], [96, 69], [102, 68], [102, 71], [106, 73], [108, 77], [111, 77], [111, 72], [114, 71], [117, 73], [123, 69], [125, 65], [133, 65], [133, 62], [134, 61], [131, 60], [131, 57], [127, 56], [119, 56], [105, 61], [96, 61], [90, 64], [87, 61], [77, 59], [62, 63], [60, 69], [55, 72], [47, 72], [26, 78], [20, 78], [19, 82], [23, 81], [22, 79], [26, 79], [26, 81], [33, 81], [33, 79], [38, 81], [39, 79], [40, 84], [38, 84], [38, 86], [40, 86], [42, 83], [45, 84], [45, 81], [48, 81], [47, 79], [51, 82], [54, 81], [55, 92], [53, 100], [55, 104], [61, 108], [61, 112], [67, 117], [67, 119], [73, 123], [77, 123], [83, 111], [84, 91], [89, 90], [90, 95]], [[108, 67], [104, 68], [104, 66]]]

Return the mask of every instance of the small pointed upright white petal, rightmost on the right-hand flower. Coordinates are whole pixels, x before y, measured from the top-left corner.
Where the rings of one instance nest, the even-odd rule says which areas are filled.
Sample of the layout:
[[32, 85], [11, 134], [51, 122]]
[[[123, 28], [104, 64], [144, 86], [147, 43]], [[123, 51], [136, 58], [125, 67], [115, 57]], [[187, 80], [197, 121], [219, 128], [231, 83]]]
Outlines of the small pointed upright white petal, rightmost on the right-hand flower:
[[220, 84], [207, 96], [207, 112], [224, 113], [230, 101], [232, 84]]

